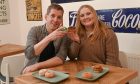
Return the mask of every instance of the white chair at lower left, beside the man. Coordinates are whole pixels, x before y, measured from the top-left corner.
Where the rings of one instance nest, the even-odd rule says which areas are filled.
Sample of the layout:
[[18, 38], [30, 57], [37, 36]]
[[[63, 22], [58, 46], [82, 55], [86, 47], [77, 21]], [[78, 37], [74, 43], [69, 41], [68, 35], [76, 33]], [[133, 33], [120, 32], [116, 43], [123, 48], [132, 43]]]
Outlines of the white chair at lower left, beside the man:
[[20, 75], [24, 67], [24, 54], [17, 54], [4, 57], [1, 63], [0, 84], [10, 84], [13, 77]]

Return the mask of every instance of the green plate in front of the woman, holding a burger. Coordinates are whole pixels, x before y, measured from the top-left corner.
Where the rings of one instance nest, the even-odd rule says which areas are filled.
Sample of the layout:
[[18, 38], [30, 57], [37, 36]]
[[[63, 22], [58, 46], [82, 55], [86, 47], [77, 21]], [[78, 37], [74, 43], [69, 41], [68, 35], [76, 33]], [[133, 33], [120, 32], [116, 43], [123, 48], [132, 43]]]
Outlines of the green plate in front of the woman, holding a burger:
[[[84, 72], [91, 72], [91, 73], [93, 74], [93, 78], [83, 78], [83, 77], [82, 77], [82, 74], [83, 74]], [[85, 68], [84, 70], [78, 72], [78, 73], [75, 75], [75, 77], [76, 77], [76, 78], [79, 78], [79, 79], [82, 79], [82, 80], [95, 81], [95, 80], [99, 79], [100, 77], [102, 77], [103, 75], [105, 75], [107, 72], [109, 72], [109, 68], [107, 68], [107, 67], [104, 67], [104, 68], [103, 68], [103, 71], [100, 72], [100, 73], [94, 71], [91, 67], [87, 67], [87, 68]]]

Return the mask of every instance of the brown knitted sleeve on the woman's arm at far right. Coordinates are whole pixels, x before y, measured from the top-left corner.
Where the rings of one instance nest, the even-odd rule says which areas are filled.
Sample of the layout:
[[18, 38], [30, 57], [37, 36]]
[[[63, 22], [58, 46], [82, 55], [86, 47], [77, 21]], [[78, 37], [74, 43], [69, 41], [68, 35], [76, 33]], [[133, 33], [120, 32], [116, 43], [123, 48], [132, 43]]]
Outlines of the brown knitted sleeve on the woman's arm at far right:
[[109, 29], [106, 36], [106, 64], [121, 66], [119, 61], [119, 45], [116, 34]]

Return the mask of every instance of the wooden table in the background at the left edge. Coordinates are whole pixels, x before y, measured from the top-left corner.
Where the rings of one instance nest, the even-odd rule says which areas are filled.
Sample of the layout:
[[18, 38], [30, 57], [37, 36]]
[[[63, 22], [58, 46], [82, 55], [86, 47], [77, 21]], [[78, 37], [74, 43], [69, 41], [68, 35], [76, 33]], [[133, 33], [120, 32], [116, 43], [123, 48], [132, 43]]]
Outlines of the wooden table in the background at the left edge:
[[16, 44], [0, 45], [0, 58], [23, 53], [24, 49], [25, 47], [22, 45], [16, 45]]

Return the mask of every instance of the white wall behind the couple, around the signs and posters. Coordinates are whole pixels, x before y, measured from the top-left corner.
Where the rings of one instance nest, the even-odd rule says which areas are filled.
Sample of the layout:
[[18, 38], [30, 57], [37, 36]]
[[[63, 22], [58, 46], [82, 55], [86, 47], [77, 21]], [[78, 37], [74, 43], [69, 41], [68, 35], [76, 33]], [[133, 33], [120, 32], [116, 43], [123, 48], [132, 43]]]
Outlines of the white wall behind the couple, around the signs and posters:
[[[43, 21], [27, 21], [25, 0], [9, 0], [11, 24], [0, 25], [0, 40], [3, 42], [26, 43], [27, 33], [32, 26], [44, 24]], [[46, 12], [50, 0], [42, 0], [43, 15]], [[140, 7], [140, 0], [93, 0], [60, 4], [64, 7], [64, 26], [69, 25], [69, 11], [77, 11], [82, 4], [92, 5], [95, 9], [115, 9]], [[8, 34], [4, 34], [7, 33]], [[17, 33], [17, 34], [16, 34]], [[13, 38], [11, 38], [13, 36]], [[117, 33], [121, 51], [140, 54], [140, 34]]]

